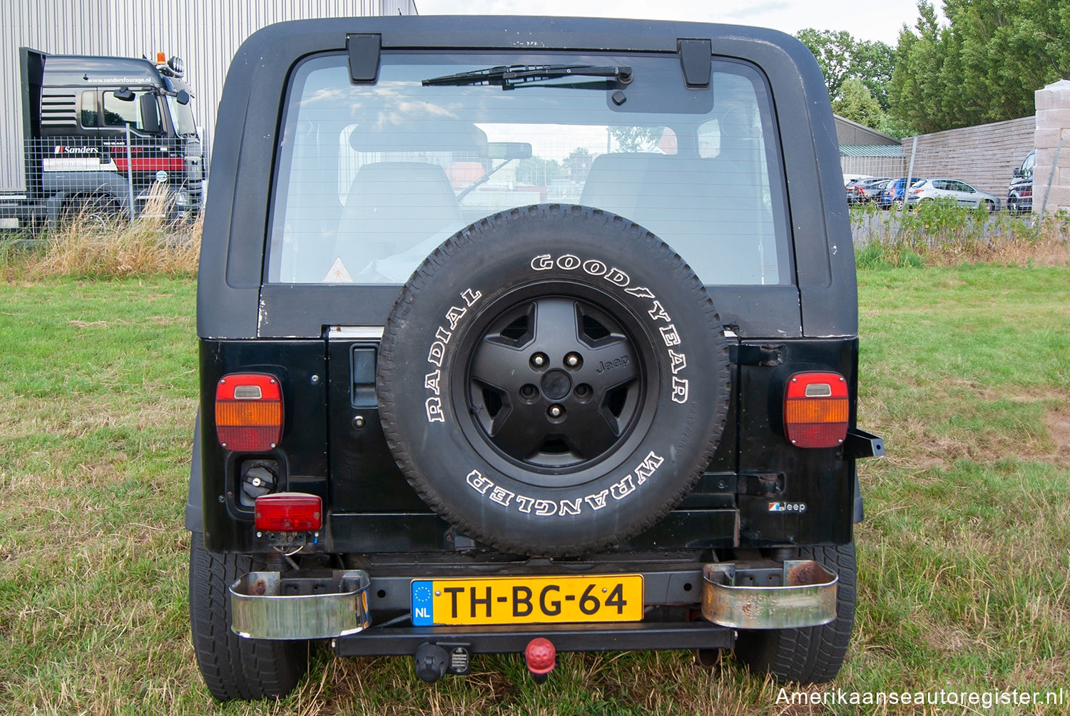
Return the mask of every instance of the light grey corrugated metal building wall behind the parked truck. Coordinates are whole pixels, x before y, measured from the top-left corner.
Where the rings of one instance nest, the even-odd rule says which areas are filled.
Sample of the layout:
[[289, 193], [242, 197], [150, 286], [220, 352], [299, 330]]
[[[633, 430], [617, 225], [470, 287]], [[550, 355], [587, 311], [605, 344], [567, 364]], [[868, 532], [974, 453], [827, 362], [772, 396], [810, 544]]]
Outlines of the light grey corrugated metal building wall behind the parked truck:
[[0, 0], [0, 189], [24, 186], [21, 46], [57, 55], [178, 55], [211, 148], [227, 67], [250, 34], [284, 20], [399, 14], [415, 15], [414, 0]]

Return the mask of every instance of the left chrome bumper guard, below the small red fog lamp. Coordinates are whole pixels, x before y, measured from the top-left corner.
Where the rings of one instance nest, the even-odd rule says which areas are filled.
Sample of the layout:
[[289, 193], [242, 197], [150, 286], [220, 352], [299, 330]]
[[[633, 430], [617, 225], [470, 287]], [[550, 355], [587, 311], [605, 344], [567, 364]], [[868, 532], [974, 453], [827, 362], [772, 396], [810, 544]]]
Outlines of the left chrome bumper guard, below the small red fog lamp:
[[336, 569], [322, 579], [295, 580], [288, 582], [286, 590], [279, 573], [250, 572], [230, 585], [230, 628], [248, 639], [327, 639], [356, 634], [370, 624], [370, 585], [363, 569]]

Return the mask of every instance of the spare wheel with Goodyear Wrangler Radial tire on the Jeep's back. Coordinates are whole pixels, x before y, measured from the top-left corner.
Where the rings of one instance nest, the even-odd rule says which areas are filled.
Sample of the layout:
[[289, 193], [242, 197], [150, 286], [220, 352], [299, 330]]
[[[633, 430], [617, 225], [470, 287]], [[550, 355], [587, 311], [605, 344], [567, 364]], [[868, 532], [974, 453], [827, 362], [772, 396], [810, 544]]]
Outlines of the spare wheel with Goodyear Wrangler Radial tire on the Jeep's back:
[[500, 549], [579, 554], [654, 524], [708, 464], [729, 396], [723, 326], [663, 242], [614, 214], [514, 209], [402, 288], [377, 390], [424, 501]]

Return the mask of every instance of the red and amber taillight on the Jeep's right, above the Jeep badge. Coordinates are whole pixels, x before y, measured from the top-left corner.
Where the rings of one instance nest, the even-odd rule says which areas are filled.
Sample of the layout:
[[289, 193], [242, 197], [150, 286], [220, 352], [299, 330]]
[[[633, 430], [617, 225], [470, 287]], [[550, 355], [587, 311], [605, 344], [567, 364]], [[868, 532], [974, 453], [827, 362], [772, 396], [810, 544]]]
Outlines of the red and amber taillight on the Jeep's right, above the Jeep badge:
[[835, 447], [847, 435], [847, 381], [838, 372], [797, 372], [784, 394], [784, 433], [796, 447]]

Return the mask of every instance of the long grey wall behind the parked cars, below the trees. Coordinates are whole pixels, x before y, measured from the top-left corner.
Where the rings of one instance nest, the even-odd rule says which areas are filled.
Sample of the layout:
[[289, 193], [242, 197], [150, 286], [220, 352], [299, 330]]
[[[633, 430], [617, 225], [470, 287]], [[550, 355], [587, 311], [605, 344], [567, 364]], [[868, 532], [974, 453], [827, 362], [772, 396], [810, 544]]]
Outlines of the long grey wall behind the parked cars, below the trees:
[[[1011, 173], [1033, 150], [1036, 120], [1023, 117], [918, 135], [914, 176], [959, 179], [1004, 202]], [[911, 161], [913, 146], [914, 137], [903, 139], [905, 164]]]

